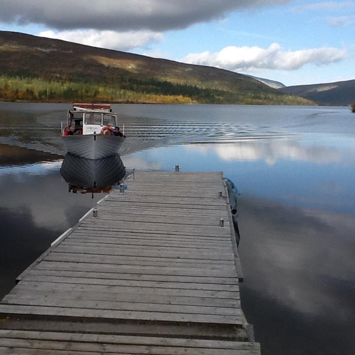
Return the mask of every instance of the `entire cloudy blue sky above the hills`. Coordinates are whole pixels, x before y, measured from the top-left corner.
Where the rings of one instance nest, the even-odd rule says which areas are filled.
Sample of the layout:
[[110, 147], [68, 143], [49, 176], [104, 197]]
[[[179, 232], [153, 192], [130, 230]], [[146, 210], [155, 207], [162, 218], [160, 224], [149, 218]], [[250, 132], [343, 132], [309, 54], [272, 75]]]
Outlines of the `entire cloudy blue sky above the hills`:
[[0, 30], [286, 86], [355, 79], [355, 0], [0, 0]]

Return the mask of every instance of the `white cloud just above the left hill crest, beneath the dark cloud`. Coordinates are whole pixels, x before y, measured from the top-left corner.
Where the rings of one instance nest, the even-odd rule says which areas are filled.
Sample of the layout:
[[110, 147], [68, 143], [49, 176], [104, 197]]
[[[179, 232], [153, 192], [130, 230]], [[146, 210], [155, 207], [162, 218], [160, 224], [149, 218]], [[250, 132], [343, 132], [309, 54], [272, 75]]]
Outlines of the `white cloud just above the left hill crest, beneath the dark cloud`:
[[130, 50], [142, 47], [149, 41], [159, 41], [163, 39], [163, 35], [161, 33], [147, 30], [126, 32], [77, 30], [58, 33], [53, 31], [44, 31], [40, 32], [38, 36], [63, 39], [94, 47], [119, 50]]

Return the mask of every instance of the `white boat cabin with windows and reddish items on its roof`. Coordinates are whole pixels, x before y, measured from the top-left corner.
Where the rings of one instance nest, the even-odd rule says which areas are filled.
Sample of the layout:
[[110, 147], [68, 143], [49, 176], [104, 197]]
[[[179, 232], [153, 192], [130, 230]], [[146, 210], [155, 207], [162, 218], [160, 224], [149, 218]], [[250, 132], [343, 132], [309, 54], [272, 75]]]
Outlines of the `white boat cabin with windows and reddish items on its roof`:
[[68, 125], [62, 129], [67, 136], [71, 127], [75, 135], [105, 134], [117, 126], [117, 114], [109, 104], [73, 104], [68, 111]]

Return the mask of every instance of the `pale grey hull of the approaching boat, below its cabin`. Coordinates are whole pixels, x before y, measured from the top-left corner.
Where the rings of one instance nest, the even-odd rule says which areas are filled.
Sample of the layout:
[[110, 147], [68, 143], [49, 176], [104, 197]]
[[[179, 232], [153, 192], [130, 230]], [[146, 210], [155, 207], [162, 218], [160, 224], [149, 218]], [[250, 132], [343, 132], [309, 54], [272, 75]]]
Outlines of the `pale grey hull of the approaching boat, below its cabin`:
[[124, 138], [104, 135], [62, 137], [68, 153], [85, 159], [101, 159], [119, 152]]

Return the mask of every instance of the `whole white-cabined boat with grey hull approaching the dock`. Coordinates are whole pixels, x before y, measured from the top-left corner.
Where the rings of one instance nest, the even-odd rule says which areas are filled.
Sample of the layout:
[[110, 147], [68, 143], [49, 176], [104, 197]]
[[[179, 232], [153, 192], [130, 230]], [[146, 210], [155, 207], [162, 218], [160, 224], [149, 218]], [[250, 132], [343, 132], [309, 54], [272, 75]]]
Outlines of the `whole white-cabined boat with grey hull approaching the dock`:
[[85, 159], [101, 159], [115, 155], [124, 142], [112, 135], [118, 126], [117, 114], [109, 104], [73, 104], [68, 122], [62, 123], [62, 138], [68, 153]]

